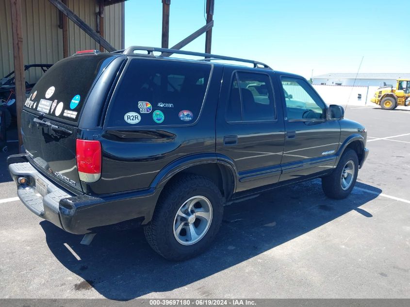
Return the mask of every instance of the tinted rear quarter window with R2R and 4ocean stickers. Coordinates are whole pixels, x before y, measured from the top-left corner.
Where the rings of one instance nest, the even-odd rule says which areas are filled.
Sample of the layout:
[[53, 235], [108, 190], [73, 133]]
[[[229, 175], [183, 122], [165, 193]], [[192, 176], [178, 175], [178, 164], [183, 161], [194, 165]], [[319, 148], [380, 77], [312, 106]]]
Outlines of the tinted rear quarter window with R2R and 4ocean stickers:
[[184, 125], [201, 111], [211, 65], [133, 59], [115, 90], [109, 127]]

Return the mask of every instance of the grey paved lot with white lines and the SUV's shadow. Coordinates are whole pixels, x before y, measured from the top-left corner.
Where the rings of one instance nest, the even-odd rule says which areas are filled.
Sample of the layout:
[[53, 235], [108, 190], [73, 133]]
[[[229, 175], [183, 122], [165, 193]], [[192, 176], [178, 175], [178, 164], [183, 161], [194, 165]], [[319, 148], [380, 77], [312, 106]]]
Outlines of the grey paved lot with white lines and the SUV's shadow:
[[2, 154], [0, 298], [410, 298], [410, 109], [346, 117], [366, 126], [370, 149], [347, 199], [313, 180], [225, 207], [212, 248], [179, 263], [142, 229], [84, 246], [7, 200], [16, 187]]

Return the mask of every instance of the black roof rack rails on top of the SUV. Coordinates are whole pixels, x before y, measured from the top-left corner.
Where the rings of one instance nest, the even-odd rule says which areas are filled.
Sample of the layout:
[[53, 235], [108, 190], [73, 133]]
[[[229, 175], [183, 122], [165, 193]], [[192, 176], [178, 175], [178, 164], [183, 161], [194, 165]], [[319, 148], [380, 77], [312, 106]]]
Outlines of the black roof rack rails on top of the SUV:
[[[127, 54], [127, 55], [135, 55], [134, 51], [137, 51], [137, 50], [147, 51], [147, 54], [146, 54], [147, 56], [154, 56], [154, 51], [161, 52], [161, 56], [163, 56], [163, 57], [169, 56], [173, 53], [177, 53], [177, 54], [200, 56], [200, 57], [205, 58], [205, 59], [200, 59], [200, 60], [197, 60], [197, 61], [226, 60], [226, 61], [250, 63], [250, 64], [253, 64], [253, 67], [255, 67], [255, 68], [272, 69], [271, 67], [269, 67], [269, 65], [266, 65], [266, 64], [264, 64], [262, 62], [258, 62], [258, 61], [240, 59], [240, 58], [233, 58], [233, 57], [223, 56], [223, 55], [215, 55], [215, 54], [211, 54], [211, 53], [184, 51], [184, 50], [179, 50], [179, 49], [131, 46], [131, 47], [128, 47], [126, 49], [114, 51], [113, 53], [123, 53], [123, 54]], [[142, 54], [142, 55], [145, 55], [145, 54]]]

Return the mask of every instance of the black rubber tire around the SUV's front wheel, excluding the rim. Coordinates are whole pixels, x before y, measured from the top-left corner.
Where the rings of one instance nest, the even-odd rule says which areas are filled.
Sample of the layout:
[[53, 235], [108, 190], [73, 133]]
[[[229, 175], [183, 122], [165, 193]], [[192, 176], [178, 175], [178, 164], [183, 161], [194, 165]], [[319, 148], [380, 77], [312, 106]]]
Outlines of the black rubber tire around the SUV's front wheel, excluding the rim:
[[[350, 162], [353, 162], [354, 167], [354, 174], [352, 175], [352, 181], [348, 188], [344, 189], [343, 188], [343, 179], [342, 179], [342, 174], [344, 173], [344, 167], [348, 166], [347, 163], [350, 164]], [[351, 164], [350, 164], [351, 165]], [[339, 163], [337, 164], [336, 168], [333, 170], [333, 172], [322, 178], [322, 189], [323, 192], [328, 196], [329, 198], [334, 198], [334, 199], [343, 199], [346, 198], [353, 190], [355, 184], [356, 184], [356, 179], [359, 171], [359, 159], [357, 157], [357, 154], [354, 150], [352, 149], [347, 149], [342, 157], [339, 160]], [[345, 173], [346, 174], [346, 173]]]

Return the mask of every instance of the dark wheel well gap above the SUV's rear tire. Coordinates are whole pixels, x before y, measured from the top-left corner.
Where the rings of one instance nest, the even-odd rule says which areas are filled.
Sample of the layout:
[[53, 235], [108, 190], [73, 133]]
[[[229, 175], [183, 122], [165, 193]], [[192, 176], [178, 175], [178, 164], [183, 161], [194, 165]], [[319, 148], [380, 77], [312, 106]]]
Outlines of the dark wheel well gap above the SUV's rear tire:
[[185, 174], [195, 174], [211, 179], [221, 191], [225, 201], [228, 201], [233, 194], [235, 178], [228, 166], [219, 163], [205, 163], [185, 168], [168, 180], [163, 191], [171, 181]]

